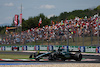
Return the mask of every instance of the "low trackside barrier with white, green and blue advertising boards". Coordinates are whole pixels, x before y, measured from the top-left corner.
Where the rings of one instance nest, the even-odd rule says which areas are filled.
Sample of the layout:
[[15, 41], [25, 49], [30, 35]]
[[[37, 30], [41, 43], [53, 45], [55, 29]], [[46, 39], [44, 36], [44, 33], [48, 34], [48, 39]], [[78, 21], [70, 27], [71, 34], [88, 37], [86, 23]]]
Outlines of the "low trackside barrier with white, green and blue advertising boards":
[[100, 46], [66, 46], [66, 45], [29, 45], [29, 46], [0, 46], [0, 51], [52, 51], [58, 48], [66, 51], [100, 53]]

